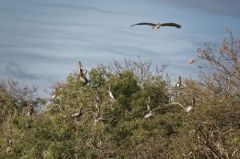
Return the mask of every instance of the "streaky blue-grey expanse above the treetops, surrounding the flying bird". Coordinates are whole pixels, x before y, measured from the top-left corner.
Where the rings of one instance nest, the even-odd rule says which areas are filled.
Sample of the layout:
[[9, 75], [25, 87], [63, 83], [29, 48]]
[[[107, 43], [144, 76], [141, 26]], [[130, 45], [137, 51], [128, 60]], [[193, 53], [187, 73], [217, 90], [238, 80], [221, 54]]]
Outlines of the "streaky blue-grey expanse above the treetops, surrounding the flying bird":
[[[196, 77], [187, 61], [225, 27], [239, 37], [239, 0], [0, 0], [0, 79], [50, 90], [76, 70], [113, 59], [169, 64], [173, 76]], [[182, 29], [138, 22], [177, 22]]]

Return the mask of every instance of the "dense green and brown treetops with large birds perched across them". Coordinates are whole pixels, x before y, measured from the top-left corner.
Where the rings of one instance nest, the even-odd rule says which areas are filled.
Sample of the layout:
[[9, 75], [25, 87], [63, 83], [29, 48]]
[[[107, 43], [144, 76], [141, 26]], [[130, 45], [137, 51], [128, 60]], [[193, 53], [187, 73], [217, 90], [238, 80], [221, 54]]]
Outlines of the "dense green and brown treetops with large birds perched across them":
[[0, 158], [240, 158], [239, 49], [206, 44], [176, 86], [142, 60], [80, 65], [45, 100], [2, 82]]

